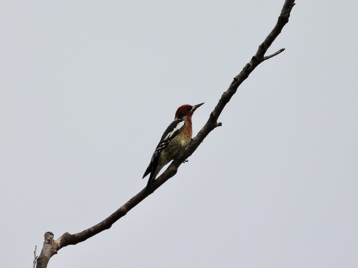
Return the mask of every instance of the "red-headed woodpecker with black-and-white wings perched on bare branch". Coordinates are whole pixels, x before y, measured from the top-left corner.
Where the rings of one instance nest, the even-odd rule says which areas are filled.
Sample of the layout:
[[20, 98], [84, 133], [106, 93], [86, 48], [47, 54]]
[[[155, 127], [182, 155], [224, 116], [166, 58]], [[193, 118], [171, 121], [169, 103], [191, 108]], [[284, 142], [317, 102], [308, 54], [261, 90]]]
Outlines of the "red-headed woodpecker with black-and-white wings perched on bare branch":
[[185, 150], [193, 135], [192, 115], [203, 104], [184, 104], [176, 110], [174, 121], [164, 131], [144, 172], [143, 179], [150, 174], [144, 192], [147, 192], [160, 170]]

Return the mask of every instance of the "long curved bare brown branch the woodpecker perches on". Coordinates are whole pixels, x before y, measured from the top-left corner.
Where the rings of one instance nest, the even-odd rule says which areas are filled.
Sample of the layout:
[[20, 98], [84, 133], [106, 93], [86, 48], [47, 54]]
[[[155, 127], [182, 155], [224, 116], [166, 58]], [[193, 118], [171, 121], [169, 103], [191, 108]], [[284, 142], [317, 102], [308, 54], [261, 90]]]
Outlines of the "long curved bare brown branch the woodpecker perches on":
[[242, 69], [240, 74], [234, 77], [232, 83], [229, 88], [222, 94], [221, 99], [218, 104], [212, 111], [209, 116], [208, 121], [205, 123], [203, 128], [199, 131], [198, 135], [192, 139], [188, 148], [179, 155], [178, 158], [174, 159], [173, 162], [169, 165], [169, 167], [165, 170], [163, 174], [160, 175], [159, 178], [154, 180], [151, 184], [151, 187], [144, 193], [144, 189], [132, 197], [127, 203], [122, 205], [122, 207], [118, 208], [112, 215], [103, 220], [102, 222], [88, 228], [77, 234], [69, 234], [64, 233], [61, 237], [54, 240], [53, 233], [47, 232], [45, 233], [45, 241], [43, 248], [41, 250], [41, 254], [37, 258], [37, 268], [46, 268], [49, 259], [57, 254], [57, 251], [67, 245], [75, 245], [79, 242], [82, 242], [93, 235], [96, 235], [103, 230], [111, 228], [112, 224], [115, 223], [118, 219], [123, 217], [129, 212], [132, 208], [134, 208], [137, 204], [139, 204], [144, 198], [146, 198], [149, 194], [153, 193], [160, 185], [165, 183], [168, 179], [173, 177], [178, 171], [179, 166], [183, 163], [185, 159], [190, 157], [193, 152], [198, 148], [200, 143], [203, 142], [205, 137], [214, 130], [216, 127], [221, 126], [221, 123], [218, 122], [219, 115], [224, 109], [225, 105], [230, 101], [231, 97], [236, 93], [238, 86], [251, 74], [251, 72], [260, 64], [262, 61], [267, 60], [279, 53], [281, 53], [284, 49], [280, 49], [276, 53], [270, 56], [264, 56], [267, 52], [267, 49], [271, 46], [272, 42], [276, 39], [276, 37], [281, 33], [282, 28], [289, 21], [290, 13], [295, 0], [285, 0], [285, 4], [281, 10], [281, 14], [277, 23], [272, 29], [271, 33], [265, 38], [263, 43], [258, 47], [256, 54], [252, 57], [251, 61], [248, 62], [245, 67]]

